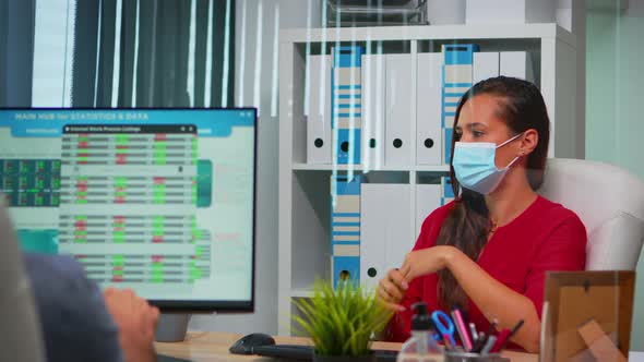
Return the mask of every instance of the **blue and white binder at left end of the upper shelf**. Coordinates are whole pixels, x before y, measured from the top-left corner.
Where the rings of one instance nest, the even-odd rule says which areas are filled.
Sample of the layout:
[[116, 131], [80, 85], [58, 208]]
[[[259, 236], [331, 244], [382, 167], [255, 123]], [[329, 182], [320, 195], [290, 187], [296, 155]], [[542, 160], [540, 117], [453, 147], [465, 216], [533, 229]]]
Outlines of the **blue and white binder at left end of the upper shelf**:
[[337, 164], [360, 164], [362, 122], [362, 48], [333, 48], [331, 109], [333, 155]]

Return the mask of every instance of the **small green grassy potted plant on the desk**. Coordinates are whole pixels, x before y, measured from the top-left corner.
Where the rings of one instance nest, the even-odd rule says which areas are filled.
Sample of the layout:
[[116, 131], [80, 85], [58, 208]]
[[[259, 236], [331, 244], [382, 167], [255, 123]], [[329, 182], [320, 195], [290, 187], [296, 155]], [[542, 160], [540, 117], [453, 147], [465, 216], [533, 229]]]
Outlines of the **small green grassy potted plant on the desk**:
[[375, 361], [371, 337], [386, 326], [392, 312], [374, 291], [349, 281], [336, 289], [317, 281], [311, 299], [294, 303], [301, 314], [294, 315], [298, 333], [313, 340], [313, 361]]

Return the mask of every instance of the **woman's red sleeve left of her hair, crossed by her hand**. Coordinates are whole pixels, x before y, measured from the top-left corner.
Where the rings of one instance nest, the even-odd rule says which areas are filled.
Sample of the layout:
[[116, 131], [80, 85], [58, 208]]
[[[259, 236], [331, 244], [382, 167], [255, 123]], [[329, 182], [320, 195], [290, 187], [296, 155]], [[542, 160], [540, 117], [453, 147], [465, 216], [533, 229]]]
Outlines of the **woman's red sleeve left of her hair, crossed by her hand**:
[[[450, 204], [451, 205], [451, 204]], [[431, 213], [422, 222], [420, 228], [420, 234], [413, 250], [430, 248], [436, 243], [436, 236], [438, 229], [442, 224], [445, 213], [445, 206], [436, 209]], [[416, 302], [422, 301], [424, 282], [422, 277], [412, 280], [409, 289], [405, 293], [405, 298], [401, 302], [401, 305], [405, 307], [404, 312], [397, 312], [390, 321], [386, 330], [385, 338], [389, 341], [404, 342], [409, 338], [409, 330], [412, 329], [412, 305]]]

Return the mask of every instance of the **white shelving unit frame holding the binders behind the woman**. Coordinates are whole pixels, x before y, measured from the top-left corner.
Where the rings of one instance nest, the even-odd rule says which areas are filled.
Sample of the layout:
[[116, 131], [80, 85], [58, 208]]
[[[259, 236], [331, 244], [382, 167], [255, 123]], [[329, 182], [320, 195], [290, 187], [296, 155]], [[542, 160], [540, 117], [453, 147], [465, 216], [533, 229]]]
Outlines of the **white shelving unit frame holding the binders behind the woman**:
[[[551, 121], [550, 157], [581, 156], [583, 120], [576, 117], [576, 50], [573, 35], [556, 24], [434, 25], [285, 29], [279, 34], [279, 265], [278, 334], [289, 335], [294, 298], [311, 295], [315, 278], [330, 278], [330, 229], [332, 172], [366, 174], [367, 182], [409, 185], [416, 215], [415, 185], [445, 174], [449, 166], [417, 165], [413, 152], [409, 167], [307, 164], [307, 116], [305, 79], [308, 55], [331, 53], [335, 45], [382, 41], [385, 52], [410, 53], [416, 75], [418, 53], [440, 51], [443, 44], [477, 44], [481, 51], [528, 51], [535, 81], [540, 87]], [[437, 50], [438, 49], [438, 50]], [[415, 85], [410, 85], [415, 99]], [[415, 119], [416, 109], [412, 111]], [[416, 140], [413, 122], [409, 140]], [[420, 228], [410, 217], [412, 236]]]

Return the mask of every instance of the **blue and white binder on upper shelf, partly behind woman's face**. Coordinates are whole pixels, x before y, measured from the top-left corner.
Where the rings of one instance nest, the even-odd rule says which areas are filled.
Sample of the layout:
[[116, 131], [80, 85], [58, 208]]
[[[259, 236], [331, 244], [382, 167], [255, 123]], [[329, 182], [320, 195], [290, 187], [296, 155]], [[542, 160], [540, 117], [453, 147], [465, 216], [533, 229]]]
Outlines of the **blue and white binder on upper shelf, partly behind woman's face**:
[[452, 126], [456, 116], [458, 100], [472, 87], [474, 52], [478, 46], [474, 44], [443, 46], [443, 86], [441, 100], [441, 126], [443, 129], [444, 161], [452, 158]]

